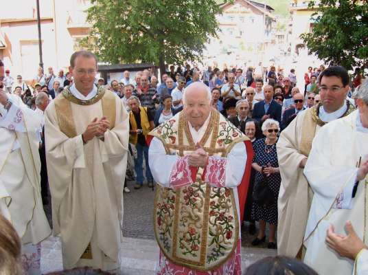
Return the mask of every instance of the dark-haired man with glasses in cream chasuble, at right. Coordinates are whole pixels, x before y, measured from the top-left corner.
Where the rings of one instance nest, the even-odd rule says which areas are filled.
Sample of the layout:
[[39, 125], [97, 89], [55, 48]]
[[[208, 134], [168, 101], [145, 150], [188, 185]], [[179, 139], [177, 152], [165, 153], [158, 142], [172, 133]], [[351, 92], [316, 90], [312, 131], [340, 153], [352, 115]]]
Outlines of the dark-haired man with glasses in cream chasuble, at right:
[[281, 132], [277, 157], [281, 174], [278, 199], [277, 252], [301, 259], [304, 232], [313, 191], [303, 168], [314, 135], [324, 125], [352, 113], [356, 108], [346, 100], [349, 75], [343, 67], [328, 67], [319, 76], [322, 104], [297, 115]]

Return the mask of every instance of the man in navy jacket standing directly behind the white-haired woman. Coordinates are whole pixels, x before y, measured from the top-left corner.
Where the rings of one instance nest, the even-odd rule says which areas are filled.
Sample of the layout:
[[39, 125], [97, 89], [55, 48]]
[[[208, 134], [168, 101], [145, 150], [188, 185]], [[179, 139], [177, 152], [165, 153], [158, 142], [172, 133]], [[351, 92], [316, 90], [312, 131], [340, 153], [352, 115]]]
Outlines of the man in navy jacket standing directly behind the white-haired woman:
[[253, 118], [261, 124], [268, 118], [273, 118], [281, 122], [281, 105], [273, 100], [273, 87], [264, 86], [264, 100], [255, 103], [253, 108]]

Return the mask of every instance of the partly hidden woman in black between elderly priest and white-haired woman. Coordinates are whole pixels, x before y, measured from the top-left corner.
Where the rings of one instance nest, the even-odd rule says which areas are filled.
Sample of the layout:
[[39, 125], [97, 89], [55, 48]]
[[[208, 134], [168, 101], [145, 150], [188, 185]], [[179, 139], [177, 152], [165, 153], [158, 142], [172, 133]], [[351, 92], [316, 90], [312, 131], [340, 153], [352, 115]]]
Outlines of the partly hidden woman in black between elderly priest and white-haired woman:
[[[245, 135], [249, 137], [252, 145], [256, 140], [260, 138], [260, 124], [256, 120], [249, 120], [245, 124]], [[249, 234], [255, 234], [255, 221], [251, 217], [252, 213], [252, 205], [253, 205], [253, 186], [255, 180], [255, 170], [252, 168], [251, 170], [251, 178], [249, 179], [249, 189], [248, 194], [246, 195], [246, 203], [244, 209], [244, 221], [249, 221]]]

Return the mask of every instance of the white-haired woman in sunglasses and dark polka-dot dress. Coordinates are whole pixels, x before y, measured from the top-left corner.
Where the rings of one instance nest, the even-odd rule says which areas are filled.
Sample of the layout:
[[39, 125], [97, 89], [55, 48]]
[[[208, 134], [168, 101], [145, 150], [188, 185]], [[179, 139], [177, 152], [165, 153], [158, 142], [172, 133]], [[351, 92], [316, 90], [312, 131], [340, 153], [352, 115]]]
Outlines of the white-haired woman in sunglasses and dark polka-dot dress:
[[271, 249], [276, 249], [277, 197], [279, 196], [281, 184], [276, 152], [279, 131], [279, 122], [273, 119], [265, 120], [262, 124], [262, 132], [266, 137], [257, 140], [253, 144], [255, 155], [252, 167], [256, 173], [251, 216], [255, 221], [259, 221], [260, 231], [252, 245], [264, 243], [266, 240], [266, 223], [268, 223], [270, 225], [268, 248]]

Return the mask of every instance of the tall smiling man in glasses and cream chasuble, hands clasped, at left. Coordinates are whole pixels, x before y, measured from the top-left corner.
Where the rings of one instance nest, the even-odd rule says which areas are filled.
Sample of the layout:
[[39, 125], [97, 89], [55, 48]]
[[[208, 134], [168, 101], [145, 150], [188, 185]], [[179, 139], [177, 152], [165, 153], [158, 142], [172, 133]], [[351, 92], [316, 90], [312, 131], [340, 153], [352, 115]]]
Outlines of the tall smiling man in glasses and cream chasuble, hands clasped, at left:
[[113, 92], [94, 84], [97, 60], [71, 56], [74, 83], [45, 112], [47, 170], [54, 234], [65, 268], [119, 268], [128, 113]]

